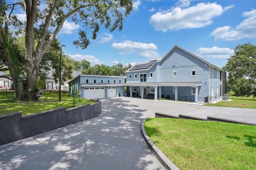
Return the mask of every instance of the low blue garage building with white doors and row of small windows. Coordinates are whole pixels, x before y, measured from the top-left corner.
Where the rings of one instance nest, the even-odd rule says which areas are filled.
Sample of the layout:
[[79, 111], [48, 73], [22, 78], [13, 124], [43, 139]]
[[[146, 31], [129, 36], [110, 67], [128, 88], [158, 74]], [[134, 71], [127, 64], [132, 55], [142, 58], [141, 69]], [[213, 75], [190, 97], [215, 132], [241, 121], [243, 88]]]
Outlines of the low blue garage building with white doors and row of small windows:
[[124, 96], [124, 79], [121, 76], [80, 74], [68, 82], [69, 95], [72, 95], [71, 87], [74, 87], [76, 92], [80, 90], [80, 97], [86, 99]]

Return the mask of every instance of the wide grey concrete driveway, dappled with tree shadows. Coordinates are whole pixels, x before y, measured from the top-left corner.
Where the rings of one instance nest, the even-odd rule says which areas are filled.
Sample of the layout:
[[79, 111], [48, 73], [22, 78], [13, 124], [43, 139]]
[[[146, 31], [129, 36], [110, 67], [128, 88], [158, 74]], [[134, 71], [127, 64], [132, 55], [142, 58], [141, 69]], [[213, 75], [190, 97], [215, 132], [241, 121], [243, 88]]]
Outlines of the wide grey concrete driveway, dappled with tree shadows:
[[0, 147], [0, 168], [6, 169], [165, 169], [148, 148], [140, 125], [155, 112], [207, 115], [256, 123], [256, 109], [205, 107], [188, 103], [130, 97], [102, 100], [94, 119], [18, 140]]

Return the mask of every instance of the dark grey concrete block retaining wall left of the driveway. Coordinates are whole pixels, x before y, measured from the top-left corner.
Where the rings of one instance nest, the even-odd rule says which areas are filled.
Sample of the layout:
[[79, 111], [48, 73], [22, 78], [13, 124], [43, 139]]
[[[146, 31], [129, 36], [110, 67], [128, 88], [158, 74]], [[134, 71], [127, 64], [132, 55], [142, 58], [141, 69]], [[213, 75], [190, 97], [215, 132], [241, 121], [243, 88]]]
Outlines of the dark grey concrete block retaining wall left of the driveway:
[[66, 110], [66, 107], [22, 117], [22, 113], [0, 116], [0, 145], [92, 119], [102, 112], [101, 101]]

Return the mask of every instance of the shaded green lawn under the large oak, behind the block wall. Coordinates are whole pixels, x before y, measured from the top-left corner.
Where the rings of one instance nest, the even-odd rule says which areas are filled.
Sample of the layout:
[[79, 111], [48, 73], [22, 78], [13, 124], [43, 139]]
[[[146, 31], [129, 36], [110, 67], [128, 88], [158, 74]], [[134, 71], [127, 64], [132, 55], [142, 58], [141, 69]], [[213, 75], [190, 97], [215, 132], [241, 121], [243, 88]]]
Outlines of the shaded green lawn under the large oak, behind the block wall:
[[[44, 92], [43, 98], [40, 98], [41, 102], [34, 101], [15, 101], [13, 100], [14, 93], [12, 92], [0, 92], [0, 115], [6, 115], [9, 113], [21, 112], [22, 116], [39, 113], [42, 111], [48, 111], [60, 107], [66, 107], [66, 109], [72, 108], [72, 96], [62, 93], [61, 101], [59, 101], [58, 92]], [[86, 103], [95, 103], [94, 101], [82, 99], [80, 105]]]

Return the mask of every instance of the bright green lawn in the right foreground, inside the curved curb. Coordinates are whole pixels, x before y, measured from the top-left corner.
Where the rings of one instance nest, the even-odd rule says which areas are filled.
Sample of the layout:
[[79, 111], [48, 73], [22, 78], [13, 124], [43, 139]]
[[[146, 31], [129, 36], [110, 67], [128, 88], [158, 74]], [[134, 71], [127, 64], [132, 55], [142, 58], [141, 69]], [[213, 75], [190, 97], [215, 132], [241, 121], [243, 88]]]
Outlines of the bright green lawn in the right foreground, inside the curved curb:
[[181, 170], [255, 170], [256, 126], [149, 118], [144, 127]]

